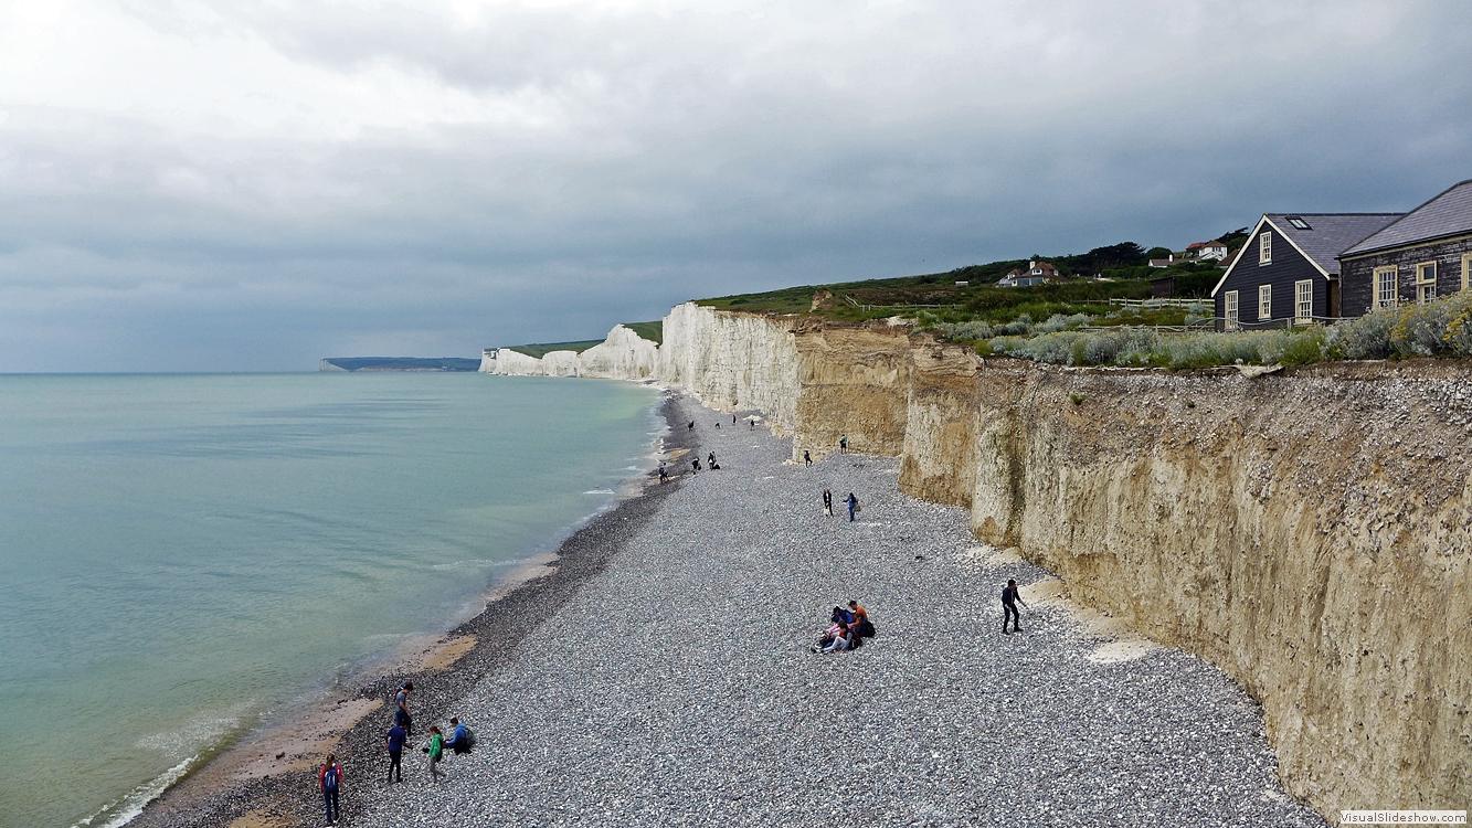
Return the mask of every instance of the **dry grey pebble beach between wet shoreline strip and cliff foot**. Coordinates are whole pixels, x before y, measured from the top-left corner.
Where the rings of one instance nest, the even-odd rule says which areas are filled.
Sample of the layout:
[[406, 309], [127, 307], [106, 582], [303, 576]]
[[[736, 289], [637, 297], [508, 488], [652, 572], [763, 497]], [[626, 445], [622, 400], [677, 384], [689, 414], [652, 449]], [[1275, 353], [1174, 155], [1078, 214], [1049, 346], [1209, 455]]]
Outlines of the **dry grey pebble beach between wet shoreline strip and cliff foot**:
[[[686, 478], [464, 702], [478, 747], [443, 785], [418, 753], [403, 785], [361, 771], [356, 824], [1323, 825], [1211, 665], [1097, 663], [1057, 603], [1002, 635], [1007, 578], [1029, 600], [1048, 574], [989, 565], [964, 510], [898, 493], [898, 462], [807, 469], [788, 441], [682, 404], [721, 471]], [[849, 597], [879, 637], [810, 653]]]

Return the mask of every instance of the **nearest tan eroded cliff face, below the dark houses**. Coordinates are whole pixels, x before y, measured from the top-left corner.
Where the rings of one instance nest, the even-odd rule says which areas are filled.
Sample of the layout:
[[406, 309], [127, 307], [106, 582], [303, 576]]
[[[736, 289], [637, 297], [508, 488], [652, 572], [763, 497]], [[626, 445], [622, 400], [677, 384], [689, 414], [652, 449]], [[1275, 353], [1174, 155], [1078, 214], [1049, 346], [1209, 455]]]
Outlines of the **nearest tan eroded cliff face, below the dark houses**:
[[969, 502], [980, 538], [1222, 666], [1325, 815], [1466, 804], [1465, 366], [1244, 379], [972, 359], [967, 381], [966, 360], [916, 351], [902, 488]]

